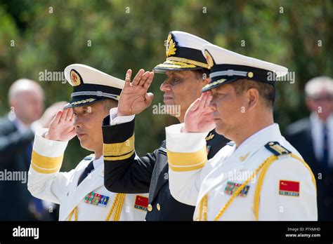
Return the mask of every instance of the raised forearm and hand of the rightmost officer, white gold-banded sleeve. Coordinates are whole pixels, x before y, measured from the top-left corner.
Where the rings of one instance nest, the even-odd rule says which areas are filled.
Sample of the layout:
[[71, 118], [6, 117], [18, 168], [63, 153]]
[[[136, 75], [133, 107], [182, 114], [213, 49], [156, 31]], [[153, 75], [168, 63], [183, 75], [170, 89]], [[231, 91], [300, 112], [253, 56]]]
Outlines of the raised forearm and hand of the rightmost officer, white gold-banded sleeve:
[[188, 205], [196, 205], [206, 174], [204, 138], [215, 128], [212, 111], [208, 107], [210, 100], [210, 93], [203, 93], [186, 111], [185, 123], [166, 128], [170, 191], [177, 201]]

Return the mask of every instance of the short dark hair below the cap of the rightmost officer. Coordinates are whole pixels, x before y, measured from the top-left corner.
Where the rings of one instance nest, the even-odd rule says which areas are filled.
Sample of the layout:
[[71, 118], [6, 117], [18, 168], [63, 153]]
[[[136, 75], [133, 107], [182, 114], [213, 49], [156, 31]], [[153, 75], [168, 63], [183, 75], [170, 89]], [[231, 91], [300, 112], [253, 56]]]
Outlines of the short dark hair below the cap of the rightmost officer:
[[263, 102], [266, 107], [273, 109], [275, 102], [275, 88], [269, 83], [249, 79], [239, 79], [231, 82], [230, 85], [233, 86], [236, 95], [240, 95], [244, 91], [251, 88], [258, 90], [259, 95], [263, 98]]

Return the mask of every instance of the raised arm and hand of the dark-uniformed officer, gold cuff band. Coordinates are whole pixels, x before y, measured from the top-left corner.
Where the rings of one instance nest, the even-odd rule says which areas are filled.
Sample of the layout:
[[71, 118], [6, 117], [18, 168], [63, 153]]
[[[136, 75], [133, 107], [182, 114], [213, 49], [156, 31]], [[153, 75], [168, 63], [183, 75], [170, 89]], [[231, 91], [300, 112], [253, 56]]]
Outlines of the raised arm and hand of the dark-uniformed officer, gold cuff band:
[[136, 156], [134, 115], [152, 102], [153, 95], [147, 91], [154, 73], [141, 69], [133, 82], [131, 74], [129, 69], [117, 109], [111, 109], [110, 117], [103, 121], [104, 182], [109, 191], [147, 193], [158, 149], [141, 158]]

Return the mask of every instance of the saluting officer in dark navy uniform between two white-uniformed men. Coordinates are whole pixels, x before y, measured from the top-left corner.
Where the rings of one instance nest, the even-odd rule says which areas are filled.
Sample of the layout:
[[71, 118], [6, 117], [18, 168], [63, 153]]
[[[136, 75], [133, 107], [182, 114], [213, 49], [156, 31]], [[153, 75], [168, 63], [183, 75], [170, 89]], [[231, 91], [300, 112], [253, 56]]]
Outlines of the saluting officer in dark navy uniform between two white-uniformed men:
[[[169, 114], [183, 123], [185, 111], [208, 83], [208, 65], [201, 52], [202, 45], [208, 42], [185, 32], [171, 32], [167, 42], [166, 62], [157, 65], [154, 72], [166, 73], [160, 86], [164, 104], [169, 106], [164, 108], [169, 108]], [[138, 158], [135, 154], [134, 114], [150, 106], [152, 94], [147, 90], [151, 82], [152, 72], [140, 70], [131, 83], [129, 70], [118, 108], [111, 109], [103, 121], [105, 187], [113, 192], [149, 192], [148, 221], [192, 221], [195, 207], [171, 196], [165, 141], [146, 156]], [[147, 128], [147, 137], [150, 133], [154, 132]], [[208, 158], [228, 142], [215, 130], [207, 134], [206, 140]]]

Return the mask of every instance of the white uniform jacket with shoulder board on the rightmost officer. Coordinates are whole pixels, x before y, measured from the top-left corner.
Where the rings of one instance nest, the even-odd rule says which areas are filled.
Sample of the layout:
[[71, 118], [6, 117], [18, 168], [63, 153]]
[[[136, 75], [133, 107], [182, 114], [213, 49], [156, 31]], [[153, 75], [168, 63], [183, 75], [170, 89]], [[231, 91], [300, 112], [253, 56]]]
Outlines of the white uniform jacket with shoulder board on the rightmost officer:
[[[195, 220], [317, 220], [315, 177], [278, 124], [207, 161], [207, 133], [166, 128], [172, 196], [195, 205]], [[239, 192], [236, 192], [239, 189]]]

